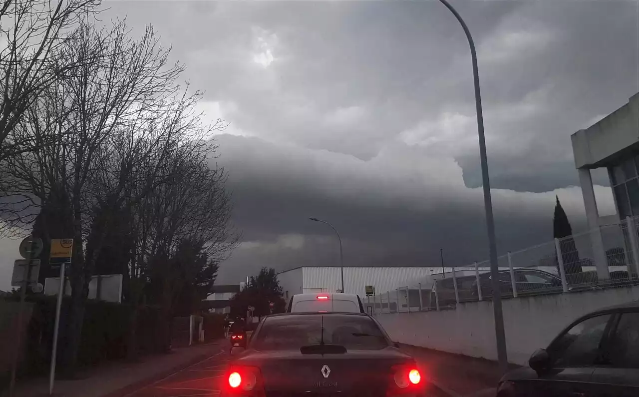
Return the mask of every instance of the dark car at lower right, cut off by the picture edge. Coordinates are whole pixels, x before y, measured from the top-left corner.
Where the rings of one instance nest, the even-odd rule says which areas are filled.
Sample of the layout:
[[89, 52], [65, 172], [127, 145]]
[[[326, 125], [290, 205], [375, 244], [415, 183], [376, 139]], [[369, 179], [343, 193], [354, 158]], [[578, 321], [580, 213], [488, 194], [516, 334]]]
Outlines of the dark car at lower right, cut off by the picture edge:
[[497, 397], [639, 396], [639, 302], [582, 316], [529, 364], [504, 375]]

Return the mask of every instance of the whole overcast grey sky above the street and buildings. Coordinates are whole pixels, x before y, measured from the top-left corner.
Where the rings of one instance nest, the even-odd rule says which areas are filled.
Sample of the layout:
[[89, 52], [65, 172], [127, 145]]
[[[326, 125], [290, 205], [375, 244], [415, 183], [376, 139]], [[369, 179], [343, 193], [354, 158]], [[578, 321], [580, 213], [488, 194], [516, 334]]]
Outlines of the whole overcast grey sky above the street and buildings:
[[[243, 244], [219, 283], [339, 263], [309, 216], [340, 231], [346, 265], [487, 258], [470, 52], [438, 1], [105, 4], [105, 21], [152, 24], [231, 123], [218, 163]], [[477, 45], [499, 253], [551, 240], [555, 195], [583, 230], [570, 135], [639, 91], [639, 3], [452, 4]], [[0, 289], [16, 247], [0, 241]]]

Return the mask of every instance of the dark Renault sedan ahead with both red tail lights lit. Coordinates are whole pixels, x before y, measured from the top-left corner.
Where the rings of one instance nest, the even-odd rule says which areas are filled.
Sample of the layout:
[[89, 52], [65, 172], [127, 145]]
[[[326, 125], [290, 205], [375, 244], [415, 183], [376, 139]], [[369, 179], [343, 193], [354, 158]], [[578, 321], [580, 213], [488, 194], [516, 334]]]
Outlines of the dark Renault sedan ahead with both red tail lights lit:
[[[240, 349], [241, 350], [241, 349]], [[415, 360], [358, 313], [266, 317], [233, 355], [222, 396], [426, 396]]]

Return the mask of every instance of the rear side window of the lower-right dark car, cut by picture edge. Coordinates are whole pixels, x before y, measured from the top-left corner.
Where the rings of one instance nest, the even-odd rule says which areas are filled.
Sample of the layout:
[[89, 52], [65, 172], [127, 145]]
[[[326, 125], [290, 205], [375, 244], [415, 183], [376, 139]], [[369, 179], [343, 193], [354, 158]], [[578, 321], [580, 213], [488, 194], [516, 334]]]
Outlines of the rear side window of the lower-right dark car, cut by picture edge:
[[608, 363], [614, 368], [639, 368], [639, 313], [624, 313], [608, 344]]

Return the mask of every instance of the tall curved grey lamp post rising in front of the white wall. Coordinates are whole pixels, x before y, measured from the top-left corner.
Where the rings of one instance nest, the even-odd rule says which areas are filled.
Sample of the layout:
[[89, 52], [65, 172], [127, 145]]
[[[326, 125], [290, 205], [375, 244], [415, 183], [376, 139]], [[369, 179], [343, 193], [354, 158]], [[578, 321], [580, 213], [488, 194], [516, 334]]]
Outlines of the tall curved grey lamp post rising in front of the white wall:
[[482, 185], [484, 187], [484, 208], [486, 210], [486, 229], [488, 231], [488, 250], [490, 253], [490, 273], [493, 288], [493, 315], [495, 316], [495, 339], [497, 339], [497, 358], [502, 372], [507, 370], [508, 357], [506, 355], [506, 341], [504, 332], [504, 313], [502, 313], [502, 299], [500, 296], [497, 244], [495, 243], [495, 221], [493, 220], [493, 203], [490, 196], [490, 181], [488, 178], [488, 159], [486, 157], [486, 137], [484, 136], [484, 115], [481, 110], [481, 93], [479, 92], [479, 72], [477, 70], [477, 52], [475, 43], [470, 35], [468, 26], [447, 0], [440, 2], [455, 15], [466, 33], [470, 45], [470, 57], [473, 64], [473, 81], [475, 82], [475, 107], [477, 108], [477, 135], [479, 135], [479, 159], [481, 162]]

